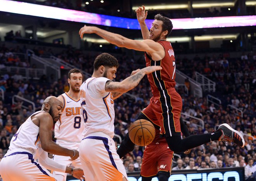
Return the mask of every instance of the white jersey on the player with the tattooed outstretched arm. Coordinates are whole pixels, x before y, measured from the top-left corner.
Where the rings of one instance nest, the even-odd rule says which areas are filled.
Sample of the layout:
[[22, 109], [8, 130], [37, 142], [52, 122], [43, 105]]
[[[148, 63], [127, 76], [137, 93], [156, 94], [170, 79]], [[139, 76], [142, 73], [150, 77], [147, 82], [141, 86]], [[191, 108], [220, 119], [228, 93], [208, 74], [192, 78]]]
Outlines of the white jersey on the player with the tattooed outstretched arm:
[[83, 136], [94, 132], [103, 132], [111, 138], [114, 136], [114, 101], [112, 94], [105, 91], [109, 79], [88, 78], [80, 87], [80, 102], [85, 129]]

